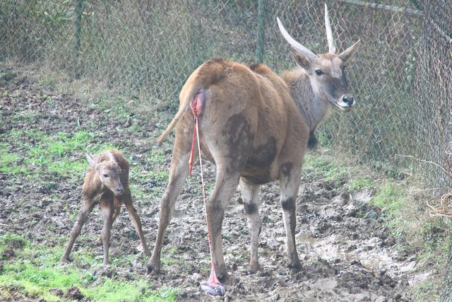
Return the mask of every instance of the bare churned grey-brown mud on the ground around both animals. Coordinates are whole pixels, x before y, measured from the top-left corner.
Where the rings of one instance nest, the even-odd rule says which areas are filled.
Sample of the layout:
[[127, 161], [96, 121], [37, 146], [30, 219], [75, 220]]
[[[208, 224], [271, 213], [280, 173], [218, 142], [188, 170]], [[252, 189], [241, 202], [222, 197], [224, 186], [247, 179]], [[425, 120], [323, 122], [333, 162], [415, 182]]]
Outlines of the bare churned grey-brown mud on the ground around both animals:
[[[99, 144], [109, 141], [124, 153], [133, 154], [133, 166], [147, 166], [143, 153], [155, 146], [160, 134], [145, 113], [120, 120], [105, 111], [85, 106], [71, 95], [43, 91], [35, 88], [28, 79], [14, 79], [0, 92], [8, 95], [0, 100], [2, 133], [11, 129], [33, 127], [47, 134], [71, 133], [85, 129], [100, 133]], [[49, 98], [54, 100], [49, 105]], [[26, 121], [8, 122], [18, 112], [30, 112]], [[143, 125], [143, 131], [134, 132], [130, 124]], [[165, 124], [165, 121], [162, 121]], [[21, 138], [27, 141], [27, 137]], [[33, 144], [32, 141], [29, 141]], [[165, 149], [167, 160], [154, 169], [167, 170], [171, 156], [169, 144]], [[10, 144], [9, 151], [25, 153], [24, 147]], [[79, 158], [83, 158], [83, 150]], [[147, 153], [148, 154], [148, 153]], [[30, 167], [32, 169], [32, 167]], [[215, 179], [215, 167], [205, 161], [205, 178]], [[199, 175], [198, 167], [194, 175]], [[198, 180], [196, 176], [196, 180]], [[410, 250], [400, 248], [397, 240], [383, 224], [379, 209], [368, 202], [370, 191], [348, 191], [344, 184], [324, 182], [319, 175], [302, 175], [302, 186], [297, 198], [297, 250], [302, 269], [294, 272], [286, 266], [285, 231], [276, 183], [261, 187], [260, 213], [263, 221], [259, 257], [261, 271], [249, 274], [249, 234], [243, 206], [237, 202], [236, 193], [230, 202], [223, 223], [223, 249], [230, 273], [225, 301], [403, 301], [410, 286], [423, 277], [415, 274], [417, 260]], [[32, 245], [49, 247], [63, 245], [71, 230], [73, 218], [80, 207], [81, 183], [52, 173], [43, 173], [42, 179], [28, 182], [25, 178], [0, 174], [0, 235], [11, 232], [22, 234]], [[153, 179], [143, 180], [145, 188], [165, 190], [166, 183]], [[204, 225], [203, 205], [199, 183], [186, 183], [177, 203], [177, 211], [165, 236], [165, 258], [162, 272], [155, 276], [146, 274], [145, 257], [141, 255], [138, 236], [127, 217], [120, 216], [112, 230], [110, 260], [121, 255], [136, 255], [128, 267], [92, 270], [95, 275], [133, 280], [146, 276], [151, 286], [173, 286], [180, 289], [180, 301], [211, 301], [199, 283], [208, 277], [208, 243]], [[146, 192], [146, 191], [145, 191]], [[51, 198], [56, 195], [58, 198]], [[143, 231], [150, 248], [157, 232], [158, 198], [141, 199], [135, 204], [143, 223]], [[102, 223], [92, 215], [82, 233], [97, 238]], [[102, 248], [95, 240], [79, 240], [75, 251], [83, 244], [92, 248], [95, 261], [102, 262]], [[169, 251], [169, 252], [168, 252]], [[83, 298], [78, 289], [66, 293], [73, 299]], [[60, 293], [61, 294], [61, 293]]]

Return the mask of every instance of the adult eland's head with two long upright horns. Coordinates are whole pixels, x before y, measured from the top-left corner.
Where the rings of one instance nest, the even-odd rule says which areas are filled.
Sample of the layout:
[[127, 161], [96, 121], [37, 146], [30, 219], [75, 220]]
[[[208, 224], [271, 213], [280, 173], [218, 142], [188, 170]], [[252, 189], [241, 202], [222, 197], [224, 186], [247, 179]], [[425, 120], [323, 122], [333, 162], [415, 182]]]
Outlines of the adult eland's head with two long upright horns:
[[328, 53], [314, 54], [287, 33], [280, 19], [278, 26], [283, 37], [292, 47], [292, 55], [298, 66], [309, 76], [311, 87], [319, 100], [328, 102], [342, 111], [349, 111], [355, 105], [355, 98], [348, 91], [345, 66], [358, 50], [359, 43], [347, 48], [340, 54], [335, 54], [336, 47], [333, 41], [333, 33], [328, 18], [328, 8], [325, 4], [325, 25], [328, 39]]

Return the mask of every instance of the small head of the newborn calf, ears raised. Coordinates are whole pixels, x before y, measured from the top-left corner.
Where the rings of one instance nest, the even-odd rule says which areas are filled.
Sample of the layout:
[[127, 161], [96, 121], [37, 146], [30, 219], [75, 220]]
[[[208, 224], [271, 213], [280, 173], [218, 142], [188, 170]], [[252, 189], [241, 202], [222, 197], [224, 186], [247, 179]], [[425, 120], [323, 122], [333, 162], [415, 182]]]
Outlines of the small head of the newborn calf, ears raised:
[[121, 167], [114, 160], [111, 152], [105, 151], [105, 155], [107, 159], [102, 161], [102, 156], [100, 156], [97, 163], [88, 154], [86, 154], [86, 158], [88, 163], [95, 169], [102, 185], [105, 185], [113, 194], [119, 196], [124, 193], [124, 186], [121, 183]]

